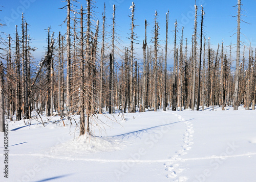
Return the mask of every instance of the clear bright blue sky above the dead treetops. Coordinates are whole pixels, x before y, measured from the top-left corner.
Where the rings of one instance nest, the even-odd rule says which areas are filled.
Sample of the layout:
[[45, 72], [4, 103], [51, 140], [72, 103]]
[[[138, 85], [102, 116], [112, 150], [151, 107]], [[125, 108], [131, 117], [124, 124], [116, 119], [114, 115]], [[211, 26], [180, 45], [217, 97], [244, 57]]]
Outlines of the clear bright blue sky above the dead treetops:
[[[80, 3], [84, 7], [86, 7], [86, 1], [80, 0]], [[119, 37], [123, 41], [123, 45], [125, 45], [129, 40], [126, 37], [127, 33], [130, 33], [130, 23], [131, 19], [128, 15], [130, 15], [130, 6], [132, 5], [132, 1], [127, 0], [110, 0], [110, 1], [96, 1], [96, 17], [101, 22], [101, 14], [103, 11], [103, 4], [106, 3], [106, 17], [107, 23], [111, 24], [112, 20], [112, 6], [116, 5], [116, 23], [119, 27]], [[139, 25], [135, 29], [135, 33], [138, 34], [139, 43], [137, 47], [139, 47], [136, 51], [138, 53], [138, 58], [141, 54], [142, 41], [144, 38], [144, 19], [146, 19], [150, 23], [150, 27], [148, 27], [148, 37], [153, 37], [151, 32], [153, 30], [154, 25], [154, 14], [155, 10], [158, 11], [158, 21], [160, 23], [160, 44], [164, 44], [165, 40], [165, 14], [169, 9], [169, 49], [171, 50], [174, 41], [174, 23], [177, 19], [178, 27], [180, 29], [184, 25], [184, 39], [187, 38], [188, 42], [191, 41], [191, 35], [193, 34], [193, 25], [194, 25], [194, 0], [183, 0], [183, 1], [170, 1], [170, 0], [134, 0], [136, 10], [135, 10], [135, 24]], [[220, 0], [197, 0], [197, 6], [199, 6], [198, 14], [201, 15], [201, 5], [204, 7], [205, 11], [205, 21], [204, 21], [204, 32], [205, 37], [210, 37], [211, 46], [217, 47], [218, 43], [222, 42], [224, 39], [224, 44], [229, 45], [230, 42], [236, 43], [236, 27], [237, 27], [237, 18], [232, 17], [232, 15], [237, 14], [237, 9], [233, 6], [237, 5], [237, 0], [232, 1], [220, 1]], [[245, 42], [245, 45], [249, 45], [249, 41], [251, 41], [252, 46], [256, 47], [256, 0], [242, 0], [242, 9], [244, 9], [243, 14], [247, 17], [242, 17], [244, 21], [251, 23], [246, 24], [242, 23], [241, 32], [244, 34], [241, 37], [241, 41]], [[10, 0], [10, 1], [1, 1], [0, 9], [0, 19], [2, 23], [6, 23], [7, 26], [0, 28], [1, 32], [5, 32], [6, 34], [10, 34], [14, 38], [15, 33], [15, 25], [19, 26], [21, 23], [21, 13], [25, 13], [25, 18], [27, 22], [30, 24], [29, 34], [31, 36], [32, 43], [31, 45], [37, 47], [38, 50], [34, 54], [34, 57], [38, 60], [44, 55], [45, 50], [44, 46], [46, 43], [46, 35], [47, 29], [49, 26], [52, 28], [51, 30], [55, 32], [55, 37], [57, 33], [60, 31], [62, 34], [66, 32], [66, 24], [63, 24], [62, 27], [59, 26], [63, 23], [67, 16], [67, 12], [65, 9], [59, 9], [66, 5], [66, 2], [62, 2], [61, 0]], [[200, 16], [198, 16], [198, 21], [200, 21]], [[199, 25], [199, 24], [198, 24]], [[180, 36], [179, 33], [179, 37]], [[200, 31], [198, 30], [198, 35]], [[20, 35], [20, 33], [19, 33]], [[233, 37], [230, 37], [232, 36]], [[4, 37], [2, 35], [2, 37]], [[233, 49], [233, 53], [235, 53], [235, 49]], [[173, 53], [171, 53], [173, 55]], [[172, 56], [169, 55], [169, 59], [172, 59]]]

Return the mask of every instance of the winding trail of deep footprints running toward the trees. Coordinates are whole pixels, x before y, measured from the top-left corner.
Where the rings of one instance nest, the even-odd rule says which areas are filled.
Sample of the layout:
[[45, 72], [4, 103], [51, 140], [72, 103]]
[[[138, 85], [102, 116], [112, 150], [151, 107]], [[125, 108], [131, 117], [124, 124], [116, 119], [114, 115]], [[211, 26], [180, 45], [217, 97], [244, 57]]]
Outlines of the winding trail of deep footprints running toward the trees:
[[167, 161], [165, 163], [165, 167], [166, 167], [166, 170], [168, 171], [168, 174], [167, 174], [168, 178], [172, 178], [174, 181], [182, 182], [182, 181], [186, 181], [187, 178], [184, 176], [180, 176], [180, 174], [182, 173], [182, 171], [184, 169], [182, 169], [182, 167], [180, 167], [178, 162], [182, 160], [179, 158], [182, 157], [183, 155], [187, 154], [187, 151], [191, 149], [191, 145], [194, 144], [193, 142], [191, 142], [191, 141], [193, 141], [192, 134], [194, 133], [194, 129], [193, 129], [193, 124], [190, 123], [188, 120], [183, 119], [181, 115], [178, 115], [175, 113], [171, 113], [171, 114], [178, 117], [179, 121], [181, 121], [185, 124], [186, 131], [183, 135], [183, 144], [181, 145], [181, 149], [176, 151], [176, 154], [173, 155], [169, 159], [169, 161]]

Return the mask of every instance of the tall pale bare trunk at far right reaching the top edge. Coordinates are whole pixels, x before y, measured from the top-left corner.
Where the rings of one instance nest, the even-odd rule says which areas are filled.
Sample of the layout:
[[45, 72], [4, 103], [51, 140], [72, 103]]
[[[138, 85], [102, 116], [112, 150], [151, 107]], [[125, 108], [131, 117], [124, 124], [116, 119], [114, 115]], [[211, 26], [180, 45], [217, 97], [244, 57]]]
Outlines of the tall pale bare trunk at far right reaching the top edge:
[[238, 0], [238, 32], [237, 32], [237, 61], [236, 61], [236, 73], [234, 74], [234, 109], [238, 110], [238, 93], [239, 93], [239, 60], [240, 60], [240, 17], [241, 17], [241, 0]]

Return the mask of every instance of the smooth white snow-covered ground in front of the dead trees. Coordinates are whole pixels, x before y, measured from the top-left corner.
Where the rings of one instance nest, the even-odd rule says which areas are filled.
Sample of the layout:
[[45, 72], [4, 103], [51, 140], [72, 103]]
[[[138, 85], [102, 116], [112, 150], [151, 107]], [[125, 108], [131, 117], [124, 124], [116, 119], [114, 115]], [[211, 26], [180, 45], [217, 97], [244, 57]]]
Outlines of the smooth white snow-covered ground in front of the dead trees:
[[98, 115], [88, 139], [78, 115], [8, 120], [0, 181], [256, 181], [256, 111], [225, 109]]

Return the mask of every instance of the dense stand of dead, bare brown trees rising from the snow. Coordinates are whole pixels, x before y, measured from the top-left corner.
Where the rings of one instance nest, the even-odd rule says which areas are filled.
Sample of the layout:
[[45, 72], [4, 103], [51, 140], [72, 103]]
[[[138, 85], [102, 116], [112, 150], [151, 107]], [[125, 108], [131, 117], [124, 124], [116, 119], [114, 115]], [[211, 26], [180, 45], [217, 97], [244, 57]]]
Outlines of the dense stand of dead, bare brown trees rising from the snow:
[[[203, 6], [195, 5], [191, 38], [183, 37], [184, 27], [177, 31], [179, 22], [169, 25], [168, 10], [166, 23], [161, 25], [166, 32], [165, 40], [161, 40], [165, 46], [159, 43], [157, 11], [154, 24], [149, 26], [148, 21], [152, 20], [145, 20], [140, 25], [145, 31], [143, 43], [139, 43], [143, 58], [136, 57], [135, 21], [139, 10], [134, 3], [127, 7], [131, 10], [127, 47], [117, 43], [115, 5], [112, 17], [106, 17], [104, 6], [102, 17], [95, 19], [97, 3], [87, 0], [83, 4], [66, 0], [59, 7], [67, 12], [67, 17], [63, 17], [67, 32], [47, 29], [46, 52], [39, 62], [33, 58], [36, 47], [31, 47], [29, 19], [24, 14], [20, 15], [21, 24], [16, 25], [15, 37], [7, 32], [0, 34], [1, 132], [5, 118], [29, 124], [33, 110], [39, 116], [43, 112], [46, 116], [80, 115], [80, 135], [84, 135], [91, 134], [91, 123], [98, 114], [116, 111], [199, 111], [215, 106], [238, 110], [240, 105], [246, 110], [255, 109], [256, 49], [240, 41], [241, 0], [237, 4], [236, 44], [230, 43], [227, 48], [222, 41], [217, 49], [211, 47], [210, 37], [204, 36]], [[0, 19], [1, 16], [0, 12]], [[106, 18], [111, 24], [106, 24]], [[5, 26], [1, 22], [0, 30]], [[106, 31], [106, 27], [111, 27], [111, 31]], [[148, 36], [150, 31], [153, 37]], [[170, 42], [174, 44], [172, 50], [168, 49]], [[169, 54], [172, 67], [167, 67]]]

